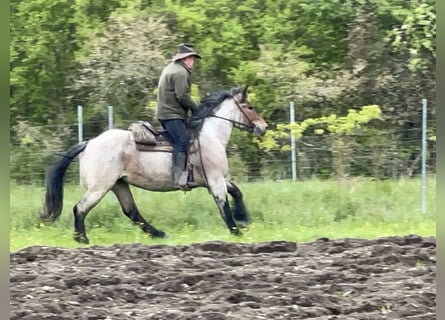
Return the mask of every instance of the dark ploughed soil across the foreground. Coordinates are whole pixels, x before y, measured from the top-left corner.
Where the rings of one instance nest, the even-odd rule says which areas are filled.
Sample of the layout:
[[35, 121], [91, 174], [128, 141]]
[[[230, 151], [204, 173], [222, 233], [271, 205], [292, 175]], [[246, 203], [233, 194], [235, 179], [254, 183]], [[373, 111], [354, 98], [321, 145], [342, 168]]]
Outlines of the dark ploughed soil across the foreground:
[[10, 319], [436, 318], [436, 240], [28, 247]]

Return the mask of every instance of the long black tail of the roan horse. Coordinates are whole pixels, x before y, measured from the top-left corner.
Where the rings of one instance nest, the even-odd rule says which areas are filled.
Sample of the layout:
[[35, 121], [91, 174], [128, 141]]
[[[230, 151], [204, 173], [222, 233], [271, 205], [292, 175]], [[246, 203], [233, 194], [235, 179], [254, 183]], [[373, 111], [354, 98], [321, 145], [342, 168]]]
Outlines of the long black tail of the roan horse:
[[57, 160], [46, 175], [45, 208], [40, 215], [42, 220], [54, 221], [62, 213], [63, 208], [63, 177], [74, 158], [81, 153], [87, 142], [79, 142]]

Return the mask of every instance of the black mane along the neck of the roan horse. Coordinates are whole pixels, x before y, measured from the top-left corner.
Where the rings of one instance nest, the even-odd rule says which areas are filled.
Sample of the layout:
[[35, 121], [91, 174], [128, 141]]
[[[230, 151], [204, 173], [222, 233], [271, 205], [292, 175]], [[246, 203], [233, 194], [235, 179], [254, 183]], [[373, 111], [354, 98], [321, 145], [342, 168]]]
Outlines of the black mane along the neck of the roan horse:
[[188, 119], [190, 127], [199, 131], [204, 119], [210, 116], [213, 110], [228, 98], [233, 98], [233, 94], [228, 90], [217, 90], [202, 98], [199, 108]]

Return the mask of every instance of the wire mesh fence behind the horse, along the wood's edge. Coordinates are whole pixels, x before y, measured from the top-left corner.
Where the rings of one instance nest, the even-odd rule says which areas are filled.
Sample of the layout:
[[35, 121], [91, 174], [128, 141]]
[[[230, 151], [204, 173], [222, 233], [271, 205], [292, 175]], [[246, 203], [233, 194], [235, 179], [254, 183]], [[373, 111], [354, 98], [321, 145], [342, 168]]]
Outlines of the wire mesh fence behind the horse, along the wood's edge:
[[[118, 127], [126, 129], [134, 121], [120, 120]], [[269, 125], [273, 127], [275, 124]], [[113, 126], [110, 122], [90, 121], [83, 124], [83, 132], [107, 130], [110, 126]], [[11, 142], [11, 178], [18, 182], [43, 183], [45, 171], [51, 162], [57, 156], [63, 155], [70, 145], [79, 141], [79, 136], [76, 134], [79, 131], [78, 124], [45, 125], [36, 129], [36, 132], [31, 133], [34, 137], [30, 138], [29, 143], [24, 143], [27, 133], [22, 133]], [[29, 127], [23, 130], [29, 130]], [[48, 137], [38, 133], [39, 130], [65, 132], [65, 135]], [[42, 136], [39, 137], [39, 134]], [[82, 139], [89, 140], [93, 137], [93, 135], [83, 135]], [[298, 180], [314, 177], [348, 178], [360, 175], [375, 179], [412, 177], [420, 175], [422, 169], [421, 128], [363, 131], [347, 136], [342, 144], [335, 146], [329, 136], [304, 135], [295, 143], [295, 159], [290, 149], [290, 136], [279, 141], [280, 148], [268, 151], [256, 148], [252, 151], [251, 144], [253, 142], [243, 145], [229, 143], [227, 153], [233, 179], [238, 181], [292, 179], [292, 161], [296, 162]], [[428, 140], [426, 148], [426, 173], [435, 174], [435, 141]]]

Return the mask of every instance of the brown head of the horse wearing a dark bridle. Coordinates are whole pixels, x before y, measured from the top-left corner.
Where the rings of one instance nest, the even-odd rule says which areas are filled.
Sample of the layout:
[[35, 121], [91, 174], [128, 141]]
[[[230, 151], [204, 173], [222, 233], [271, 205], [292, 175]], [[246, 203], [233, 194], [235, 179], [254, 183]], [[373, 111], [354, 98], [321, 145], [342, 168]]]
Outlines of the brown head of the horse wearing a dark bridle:
[[247, 128], [255, 135], [262, 136], [267, 129], [267, 123], [255, 110], [255, 107], [247, 100], [247, 86], [244, 89], [235, 87], [231, 90], [233, 99], [239, 108], [240, 117], [238, 119], [240, 128]]

